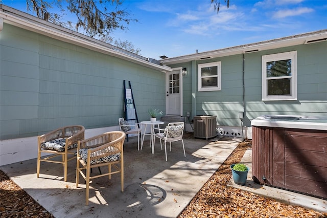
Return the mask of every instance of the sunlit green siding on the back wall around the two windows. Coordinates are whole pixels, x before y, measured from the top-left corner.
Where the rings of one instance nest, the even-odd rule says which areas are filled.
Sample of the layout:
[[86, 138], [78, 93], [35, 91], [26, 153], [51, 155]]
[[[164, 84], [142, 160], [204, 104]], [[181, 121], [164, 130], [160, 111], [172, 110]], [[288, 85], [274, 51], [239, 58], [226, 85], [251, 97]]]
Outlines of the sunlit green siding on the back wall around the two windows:
[[[262, 55], [297, 51], [297, 99], [296, 101], [262, 101]], [[244, 55], [244, 102], [243, 102], [243, 55], [232, 55], [210, 60], [173, 64], [185, 67], [183, 77], [183, 110], [194, 115], [216, 115], [218, 125], [239, 126], [238, 112], [243, 111], [244, 126], [262, 114], [327, 116], [327, 42], [279, 48]], [[221, 91], [197, 92], [197, 64], [221, 61]], [[192, 66], [194, 66], [192, 68]], [[193, 81], [193, 83], [192, 83]], [[192, 87], [195, 87], [192, 93]]]

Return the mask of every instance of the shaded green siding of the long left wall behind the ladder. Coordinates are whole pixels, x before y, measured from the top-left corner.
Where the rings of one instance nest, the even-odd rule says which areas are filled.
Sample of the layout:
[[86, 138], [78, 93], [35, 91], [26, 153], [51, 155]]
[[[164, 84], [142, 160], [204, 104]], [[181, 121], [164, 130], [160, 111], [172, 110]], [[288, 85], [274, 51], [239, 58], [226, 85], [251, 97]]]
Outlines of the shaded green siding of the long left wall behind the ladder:
[[139, 121], [165, 111], [165, 73], [8, 24], [0, 32], [1, 140], [65, 125], [118, 125], [123, 81], [131, 81]]

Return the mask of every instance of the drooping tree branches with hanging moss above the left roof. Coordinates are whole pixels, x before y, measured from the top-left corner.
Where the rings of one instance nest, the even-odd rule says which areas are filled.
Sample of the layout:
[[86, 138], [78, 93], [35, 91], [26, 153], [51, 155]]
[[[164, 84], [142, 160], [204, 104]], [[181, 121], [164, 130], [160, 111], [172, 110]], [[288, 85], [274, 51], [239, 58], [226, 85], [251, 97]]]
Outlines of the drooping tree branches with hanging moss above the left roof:
[[[127, 30], [121, 23], [129, 24], [129, 13], [126, 10], [120, 10], [122, 0], [26, 0], [27, 10], [34, 11], [36, 16], [50, 21], [54, 24], [67, 27], [73, 27], [76, 23], [76, 31], [84, 31], [90, 36], [104, 36], [115, 29]], [[51, 12], [53, 7], [57, 7], [59, 12]], [[52, 10], [58, 11], [58, 10]], [[75, 16], [69, 16], [76, 19], [63, 20], [66, 13]]]

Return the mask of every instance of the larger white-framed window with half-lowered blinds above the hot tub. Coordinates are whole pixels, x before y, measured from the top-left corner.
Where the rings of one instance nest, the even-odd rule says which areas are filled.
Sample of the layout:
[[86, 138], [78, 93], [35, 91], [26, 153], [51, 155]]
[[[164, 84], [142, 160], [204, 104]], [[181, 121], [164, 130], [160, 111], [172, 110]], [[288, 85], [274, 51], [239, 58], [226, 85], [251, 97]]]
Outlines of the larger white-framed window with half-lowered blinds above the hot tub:
[[262, 56], [262, 100], [297, 100], [297, 52]]

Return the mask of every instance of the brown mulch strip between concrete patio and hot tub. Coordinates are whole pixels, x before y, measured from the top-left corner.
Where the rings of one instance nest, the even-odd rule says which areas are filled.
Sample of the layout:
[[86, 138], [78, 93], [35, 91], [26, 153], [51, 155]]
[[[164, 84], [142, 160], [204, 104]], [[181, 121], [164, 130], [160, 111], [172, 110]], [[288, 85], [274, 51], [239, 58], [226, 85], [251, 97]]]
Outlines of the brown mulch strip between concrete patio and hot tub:
[[242, 160], [251, 141], [242, 142], [204, 184], [179, 215], [184, 217], [327, 217], [302, 207], [287, 205], [251, 192], [227, 187], [230, 165]]

